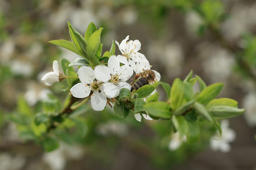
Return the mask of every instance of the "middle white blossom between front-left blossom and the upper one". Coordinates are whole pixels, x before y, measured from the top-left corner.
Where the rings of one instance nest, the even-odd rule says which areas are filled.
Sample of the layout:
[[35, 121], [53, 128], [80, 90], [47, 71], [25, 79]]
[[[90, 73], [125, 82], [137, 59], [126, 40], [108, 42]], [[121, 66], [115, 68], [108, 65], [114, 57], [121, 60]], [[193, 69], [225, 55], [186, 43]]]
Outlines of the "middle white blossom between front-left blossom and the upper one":
[[111, 78], [108, 83], [104, 83], [102, 86], [106, 97], [117, 97], [121, 88], [131, 89], [131, 85], [125, 82], [133, 75], [133, 69], [130, 66], [120, 66], [118, 58], [111, 56], [109, 57], [108, 68], [110, 70]]

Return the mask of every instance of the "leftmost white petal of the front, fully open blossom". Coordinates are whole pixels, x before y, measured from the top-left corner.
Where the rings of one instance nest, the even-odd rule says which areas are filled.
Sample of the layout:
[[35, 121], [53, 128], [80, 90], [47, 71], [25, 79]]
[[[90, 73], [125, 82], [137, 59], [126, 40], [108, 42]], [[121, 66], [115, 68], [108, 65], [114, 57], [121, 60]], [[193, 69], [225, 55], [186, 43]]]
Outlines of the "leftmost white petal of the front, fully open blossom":
[[90, 95], [90, 87], [85, 83], [77, 83], [71, 89], [71, 94], [77, 98], [85, 98]]

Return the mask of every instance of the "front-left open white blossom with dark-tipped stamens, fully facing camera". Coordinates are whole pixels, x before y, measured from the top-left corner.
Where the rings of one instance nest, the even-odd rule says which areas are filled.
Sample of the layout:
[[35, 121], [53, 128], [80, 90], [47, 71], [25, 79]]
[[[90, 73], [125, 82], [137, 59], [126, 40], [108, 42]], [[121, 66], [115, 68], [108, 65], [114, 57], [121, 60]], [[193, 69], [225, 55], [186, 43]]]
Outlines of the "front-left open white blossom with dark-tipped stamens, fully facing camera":
[[108, 67], [98, 65], [93, 70], [91, 67], [82, 66], [77, 71], [81, 83], [75, 84], [71, 88], [71, 93], [74, 97], [85, 98], [90, 97], [90, 103], [95, 111], [102, 111], [107, 103], [106, 96], [102, 92], [102, 85], [111, 78]]

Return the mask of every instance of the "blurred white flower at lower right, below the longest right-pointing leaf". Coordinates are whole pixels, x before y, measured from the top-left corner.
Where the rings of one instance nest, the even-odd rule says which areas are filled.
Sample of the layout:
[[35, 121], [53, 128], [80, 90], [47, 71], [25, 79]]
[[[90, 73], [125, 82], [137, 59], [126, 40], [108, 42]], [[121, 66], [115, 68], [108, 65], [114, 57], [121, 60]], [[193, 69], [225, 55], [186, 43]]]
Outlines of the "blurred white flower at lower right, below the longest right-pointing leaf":
[[233, 129], [229, 128], [229, 120], [221, 121], [221, 129], [222, 135], [220, 139], [218, 135], [214, 135], [210, 139], [210, 147], [212, 150], [217, 151], [220, 150], [222, 152], [229, 152], [231, 150], [230, 142], [233, 142], [236, 139], [236, 133]]

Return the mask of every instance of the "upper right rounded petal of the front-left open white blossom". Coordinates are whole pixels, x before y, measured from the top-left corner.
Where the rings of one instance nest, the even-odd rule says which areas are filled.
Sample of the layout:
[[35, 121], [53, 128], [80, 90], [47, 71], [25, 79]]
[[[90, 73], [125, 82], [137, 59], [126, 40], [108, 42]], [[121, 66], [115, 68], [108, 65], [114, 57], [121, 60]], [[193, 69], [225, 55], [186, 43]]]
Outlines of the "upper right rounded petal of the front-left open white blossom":
[[96, 66], [94, 69], [94, 73], [95, 73], [96, 79], [102, 82], [108, 82], [108, 80], [111, 78], [110, 70], [105, 65]]

